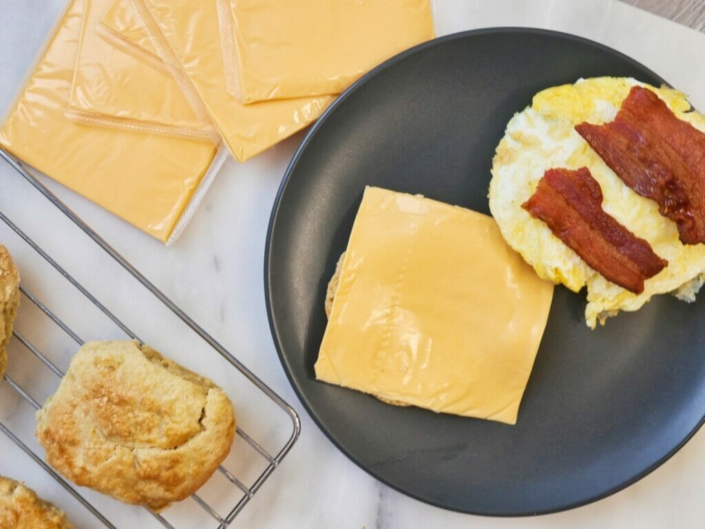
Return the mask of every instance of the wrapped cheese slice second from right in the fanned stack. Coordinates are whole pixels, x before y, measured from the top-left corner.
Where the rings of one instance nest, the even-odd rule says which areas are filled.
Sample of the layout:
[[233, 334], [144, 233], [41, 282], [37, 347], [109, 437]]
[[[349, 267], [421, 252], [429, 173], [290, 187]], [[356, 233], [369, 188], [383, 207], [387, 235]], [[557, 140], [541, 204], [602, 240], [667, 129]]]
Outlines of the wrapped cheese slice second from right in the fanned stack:
[[[202, 100], [228, 148], [245, 161], [317, 119], [332, 97], [281, 99], [244, 105], [226, 89], [218, 17], [214, 1], [115, 0], [102, 23], [116, 28], [109, 17], [135, 19], [149, 35], [169, 73], [189, 101]], [[120, 33], [123, 39], [138, 32]], [[137, 40], [133, 41], [139, 45]]]

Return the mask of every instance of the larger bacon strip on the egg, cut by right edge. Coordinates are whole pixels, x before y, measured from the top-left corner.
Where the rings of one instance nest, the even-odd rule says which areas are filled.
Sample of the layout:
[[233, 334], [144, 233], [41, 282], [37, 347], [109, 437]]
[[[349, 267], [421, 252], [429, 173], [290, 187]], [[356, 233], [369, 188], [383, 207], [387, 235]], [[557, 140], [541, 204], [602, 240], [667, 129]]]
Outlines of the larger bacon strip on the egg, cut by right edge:
[[632, 87], [613, 122], [575, 130], [626, 185], [656, 201], [683, 244], [705, 242], [705, 134], [642, 87]]

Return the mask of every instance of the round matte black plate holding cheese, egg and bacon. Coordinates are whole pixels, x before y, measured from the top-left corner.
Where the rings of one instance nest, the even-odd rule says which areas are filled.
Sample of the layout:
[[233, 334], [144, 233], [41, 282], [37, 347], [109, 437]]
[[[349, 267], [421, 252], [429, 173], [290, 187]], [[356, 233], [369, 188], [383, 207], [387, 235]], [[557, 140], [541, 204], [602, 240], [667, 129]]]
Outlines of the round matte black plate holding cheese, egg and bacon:
[[705, 304], [670, 296], [590, 331], [584, 294], [556, 288], [513, 427], [400, 409], [314, 380], [326, 282], [364, 186], [489, 213], [492, 156], [513, 113], [541, 89], [598, 75], [663, 83], [632, 59], [570, 35], [450, 35], [357, 82], [313, 127], [288, 168], [265, 256], [274, 342], [321, 430], [401, 492], [475, 514], [568, 509], [646, 475], [703, 421]]

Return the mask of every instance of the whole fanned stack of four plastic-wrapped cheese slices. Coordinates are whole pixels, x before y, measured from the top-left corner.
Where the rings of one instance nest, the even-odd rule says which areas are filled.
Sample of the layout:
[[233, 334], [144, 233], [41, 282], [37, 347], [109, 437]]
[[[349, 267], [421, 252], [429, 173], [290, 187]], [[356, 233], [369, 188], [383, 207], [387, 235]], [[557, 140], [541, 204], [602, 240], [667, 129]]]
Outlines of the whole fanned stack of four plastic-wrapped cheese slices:
[[429, 0], [71, 0], [0, 147], [173, 240], [227, 151], [264, 151], [431, 37]]

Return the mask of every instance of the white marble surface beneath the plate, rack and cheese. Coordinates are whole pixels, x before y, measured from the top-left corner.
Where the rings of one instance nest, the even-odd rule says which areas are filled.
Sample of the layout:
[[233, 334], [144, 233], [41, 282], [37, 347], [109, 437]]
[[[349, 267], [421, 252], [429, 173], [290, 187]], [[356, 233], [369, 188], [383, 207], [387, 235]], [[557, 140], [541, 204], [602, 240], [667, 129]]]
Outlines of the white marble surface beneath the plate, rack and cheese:
[[[0, 107], [18, 87], [63, 0], [4, 0], [0, 16]], [[528, 25], [574, 32], [613, 46], [656, 70], [692, 94], [705, 108], [705, 36], [613, 0], [551, 1], [437, 0], [439, 35], [492, 25]], [[380, 485], [340, 454], [309, 420], [278, 363], [264, 308], [262, 261], [269, 211], [288, 159], [301, 141], [296, 135], [238, 166], [226, 164], [202, 210], [175, 247], [166, 249], [108, 213], [53, 185], [99, 233], [140, 268], [204, 328], [283, 395], [302, 416], [302, 435], [281, 468], [264, 485], [234, 527], [400, 529], [444, 528], [700, 528], [705, 519], [705, 433], [700, 432], [673, 459], [618, 494], [580, 509], [539, 518], [492, 519], [427, 506]], [[37, 146], [41, 148], [40, 145]], [[168, 347], [188, 366], [214, 377], [240, 403], [240, 424], [275, 449], [286, 436], [285, 422], [233, 369], [223, 369], [212, 351], [183, 331], [134, 280], [106, 259], [92, 242], [61, 218], [0, 163], [0, 211], [21, 225], [90, 290], [125, 318], [145, 341]], [[6, 228], [0, 240], [16, 254], [23, 284], [56, 308], [85, 337], [118, 336], [80, 296], [61, 282]], [[40, 320], [30, 303], [18, 328], [61, 366], [75, 347]], [[188, 335], [188, 336], [187, 336]], [[9, 373], [44, 399], [56, 380], [42, 373], [15, 340]], [[30, 410], [0, 385], [0, 419], [31, 442]], [[245, 404], [247, 403], [247, 404]], [[645, 411], [646, 413], [647, 411]], [[277, 427], [277, 425], [280, 425]], [[244, 448], [243, 448], [244, 449]], [[254, 461], [247, 458], [247, 461]], [[245, 477], [250, 463], [228, 461]], [[472, 471], [472, 469], [468, 469]], [[25, 480], [64, 507], [80, 528], [99, 527], [75, 500], [0, 435], [0, 473]], [[204, 497], [225, 511], [230, 499], [222, 480], [207, 485]], [[119, 528], [157, 527], [138, 509], [86, 492]], [[177, 506], [167, 517], [178, 527], [210, 527], [194, 504]]]

